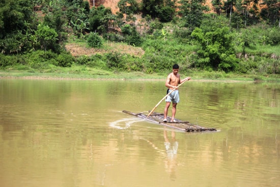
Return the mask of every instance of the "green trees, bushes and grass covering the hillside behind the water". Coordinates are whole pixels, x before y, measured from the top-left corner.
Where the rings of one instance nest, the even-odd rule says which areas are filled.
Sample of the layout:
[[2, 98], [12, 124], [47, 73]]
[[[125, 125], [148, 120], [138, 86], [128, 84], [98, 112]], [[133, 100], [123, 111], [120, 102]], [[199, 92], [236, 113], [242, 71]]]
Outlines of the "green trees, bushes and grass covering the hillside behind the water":
[[[215, 13], [205, 1], [122, 0], [112, 14], [82, 0], [4, 0], [1, 74], [161, 78], [178, 63], [197, 78], [279, 78], [277, 1], [212, 4]], [[72, 56], [69, 44], [96, 51]], [[139, 47], [143, 54], [133, 52]]]

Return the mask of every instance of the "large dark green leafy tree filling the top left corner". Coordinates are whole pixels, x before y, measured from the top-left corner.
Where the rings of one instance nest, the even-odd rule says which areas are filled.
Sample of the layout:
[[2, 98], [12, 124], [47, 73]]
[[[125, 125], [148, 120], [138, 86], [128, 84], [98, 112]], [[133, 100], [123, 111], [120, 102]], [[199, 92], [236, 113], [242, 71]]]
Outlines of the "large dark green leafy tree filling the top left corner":
[[6, 54], [29, 51], [37, 24], [30, 0], [0, 1], [0, 51]]

